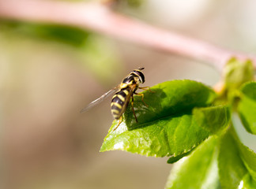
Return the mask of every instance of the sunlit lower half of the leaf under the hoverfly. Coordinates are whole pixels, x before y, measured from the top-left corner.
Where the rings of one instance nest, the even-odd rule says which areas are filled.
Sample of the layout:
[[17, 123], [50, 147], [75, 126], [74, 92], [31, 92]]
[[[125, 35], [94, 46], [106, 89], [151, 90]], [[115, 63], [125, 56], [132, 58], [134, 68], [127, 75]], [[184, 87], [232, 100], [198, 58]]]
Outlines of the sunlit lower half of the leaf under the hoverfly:
[[177, 156], [198, 146], [209, 136], [209, 132], [200, 128], [188, 114], [151, 121], [133, 130], [128, 130], [123, 123], [111, 132], [114, 127], [100, 151], [126, 150], [146, 156]]

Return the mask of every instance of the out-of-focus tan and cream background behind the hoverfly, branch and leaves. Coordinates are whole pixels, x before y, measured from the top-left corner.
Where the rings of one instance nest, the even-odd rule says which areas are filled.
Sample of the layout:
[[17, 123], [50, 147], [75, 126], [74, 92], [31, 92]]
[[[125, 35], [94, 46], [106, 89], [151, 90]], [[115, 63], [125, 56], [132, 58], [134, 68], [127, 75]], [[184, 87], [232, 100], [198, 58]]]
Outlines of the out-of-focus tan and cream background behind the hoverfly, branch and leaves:
[[[254, 0], [120, 0], [115, 7], [127, 17], [251, 54], [255, 9]], [[206, 62], [93, 31], [1, 19], [1, 188], [164, 188], [168, 158], [99, 152], [113, 120], [111, 97], [79, 113], [140, 66], [144, 86], [175, 79], [213, 86], [220, 80]], [[254, 136], [240, 128], [243, 142], [255, 150]]]

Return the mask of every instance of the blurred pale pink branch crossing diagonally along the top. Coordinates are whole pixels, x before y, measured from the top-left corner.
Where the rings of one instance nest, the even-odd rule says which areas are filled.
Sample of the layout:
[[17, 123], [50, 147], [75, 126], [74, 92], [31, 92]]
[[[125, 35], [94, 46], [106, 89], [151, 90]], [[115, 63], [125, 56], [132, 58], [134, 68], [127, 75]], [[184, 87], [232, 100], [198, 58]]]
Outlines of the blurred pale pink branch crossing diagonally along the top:
[[103, 35], [125, 39], [155, 50], [209, 62], [222, 69], [230, 57], [250, 58], [256, 68], [256, 56], [233, 52], [153, 27], [122, 16], [97, 3], [0, 0], [0, 17], [47, 24], [65, 24]]

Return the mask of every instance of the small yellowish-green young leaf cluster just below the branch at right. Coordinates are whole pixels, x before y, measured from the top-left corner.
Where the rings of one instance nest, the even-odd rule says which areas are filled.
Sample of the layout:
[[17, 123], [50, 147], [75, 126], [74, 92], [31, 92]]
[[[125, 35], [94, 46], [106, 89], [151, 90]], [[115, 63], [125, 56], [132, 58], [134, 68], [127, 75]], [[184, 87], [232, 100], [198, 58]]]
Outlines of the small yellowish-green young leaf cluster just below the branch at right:
[[253, 80], [254, 67], [251, 61], [239, 61], [231, 58], [224, 67], [224, 83], [228, 90], [237, 89], [243, 83]]

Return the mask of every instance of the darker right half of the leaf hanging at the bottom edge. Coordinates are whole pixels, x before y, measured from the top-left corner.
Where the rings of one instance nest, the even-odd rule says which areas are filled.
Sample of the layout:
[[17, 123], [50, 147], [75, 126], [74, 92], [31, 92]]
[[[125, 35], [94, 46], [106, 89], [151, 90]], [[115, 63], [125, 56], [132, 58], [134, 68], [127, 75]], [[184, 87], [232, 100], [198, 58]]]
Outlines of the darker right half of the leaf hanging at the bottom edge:
[[236, 141], [230, 131], [220, 140], [219, 175], [223, 189], [238, 188], [247, 169], [239, 155]]

